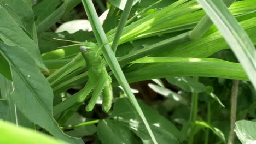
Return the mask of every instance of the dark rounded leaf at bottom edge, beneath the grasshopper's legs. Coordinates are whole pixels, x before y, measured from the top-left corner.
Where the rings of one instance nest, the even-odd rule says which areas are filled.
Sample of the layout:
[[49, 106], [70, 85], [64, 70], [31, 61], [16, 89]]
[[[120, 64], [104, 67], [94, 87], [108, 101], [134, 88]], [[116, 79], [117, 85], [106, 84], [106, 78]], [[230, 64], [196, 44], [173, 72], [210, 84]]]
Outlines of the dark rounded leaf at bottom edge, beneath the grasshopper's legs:
[[97, 125], [97, 135], [101, 143], [140, 143], [133, 132], [124, 124], [109, 119], [101, 121]]

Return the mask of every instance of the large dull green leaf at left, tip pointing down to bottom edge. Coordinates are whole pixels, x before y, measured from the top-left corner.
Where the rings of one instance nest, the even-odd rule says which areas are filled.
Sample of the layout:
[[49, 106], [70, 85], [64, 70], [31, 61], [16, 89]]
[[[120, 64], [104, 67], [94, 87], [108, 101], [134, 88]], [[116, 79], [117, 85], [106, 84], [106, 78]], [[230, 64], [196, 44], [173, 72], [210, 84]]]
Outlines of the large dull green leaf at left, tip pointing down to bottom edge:
[[7, 57], [11, 65], [15, 89], [11, 93], [11, 98], [18, 109], [31, 122], [40, 125], [57, 138], [69, 143], [83, 143], [82, 140], [63, 134], [53, 119], [52, 89], [29, 53], [19, 46], [7, 46], [2, 43], [0, 43], [0, 52]]

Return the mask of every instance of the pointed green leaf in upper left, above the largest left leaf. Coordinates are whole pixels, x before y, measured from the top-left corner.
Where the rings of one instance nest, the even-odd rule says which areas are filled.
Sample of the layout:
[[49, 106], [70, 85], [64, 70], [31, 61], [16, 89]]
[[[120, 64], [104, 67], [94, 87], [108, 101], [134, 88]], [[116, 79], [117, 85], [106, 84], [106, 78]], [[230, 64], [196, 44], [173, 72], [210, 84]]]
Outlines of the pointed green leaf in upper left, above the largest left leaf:
[[7, 45], [23, 47], [31, 54], [30, 57], [32, 56], [36, 60], [39, 67], [48, 70], [42, 63], [37, 44], [23, 31], [22, 26], [19, 25], [20, 23], [17, 23], [15, 19], [18, 18], [14, 17], [14, 12], [5, 7], [4, 3], [0, 3], [0, 13], [0, 39]]

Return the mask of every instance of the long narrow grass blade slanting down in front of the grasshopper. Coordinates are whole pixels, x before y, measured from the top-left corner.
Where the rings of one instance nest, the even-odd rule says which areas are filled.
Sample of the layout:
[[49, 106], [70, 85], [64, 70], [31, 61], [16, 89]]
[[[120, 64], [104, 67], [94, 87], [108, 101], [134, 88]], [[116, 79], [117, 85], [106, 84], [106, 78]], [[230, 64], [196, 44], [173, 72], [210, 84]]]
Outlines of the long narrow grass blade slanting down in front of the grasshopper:
[[[82, 0], [86, 14], [88, 15], [88, 19], [91, 23], [92, 29], [94, 31], [95, 37], [98, 41], [99, 45], [103, 45], [108, 41], [106, 34], [104, 33], [104, 30], [101, 26], [100, 20], [98, 20], [98, 16], [96, 13], [96, 10], [94, 8], [94, 4], [90, 0]], [[115, 77], [117, 78], [120, 85], [124, 88], [125, 93], [128, 95], [131, 103], [135, 107], [135, 110], [138, 112], [138, 115], [142, 118], [142, 121], [146, 125], [146, 128], [148, 130], [148, 133], [150, 137], [152, 138], [154, 143], [156, 142], [155, 136], [152, 132], [152, 130], [149, 127], [149, 124], [147, 122], [146, 117], [144, 116], [141, 107], [138, 104], [138, 101], [135, 98], [135, 95], [133, 95], [131, 88], [129, 86], [129, 83], [125, 79], [124, 73], [121, 70], [121, 67], [117, 61], [117, 58], [114, 55], [114, 52], [112, 51], [110, 45], [107, 43], [104, 45], [104, 47], [101, 49], [104, 58], [106, 59], [106, 62], [108, 63], [110, 69], [113, 71]]]

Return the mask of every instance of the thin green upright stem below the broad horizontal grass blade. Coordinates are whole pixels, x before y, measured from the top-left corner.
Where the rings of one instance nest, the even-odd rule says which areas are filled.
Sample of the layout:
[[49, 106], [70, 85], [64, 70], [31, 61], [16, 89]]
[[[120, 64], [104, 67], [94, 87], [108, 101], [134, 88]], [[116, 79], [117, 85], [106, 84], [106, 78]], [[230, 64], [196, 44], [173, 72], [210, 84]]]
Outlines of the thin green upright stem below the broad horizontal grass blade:
[[[198, 81], [198, 77], [195, 77], [196, 81]], [[193, 92], [192, 93], [192, 104], [191, 104], [191, 110], [190, 110], [190, 116], [189, 116], [189, 122], [191, 123], [191, 132], [189, 136], [189, 144], [193, 143], [194, 140], [194, 128], [195, 128], [195, 122], [197, 117], [197, 105], [198, 105], [198, 93]]]

